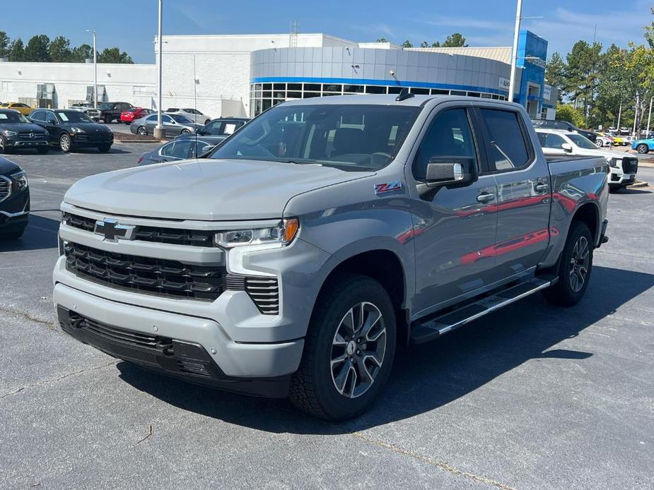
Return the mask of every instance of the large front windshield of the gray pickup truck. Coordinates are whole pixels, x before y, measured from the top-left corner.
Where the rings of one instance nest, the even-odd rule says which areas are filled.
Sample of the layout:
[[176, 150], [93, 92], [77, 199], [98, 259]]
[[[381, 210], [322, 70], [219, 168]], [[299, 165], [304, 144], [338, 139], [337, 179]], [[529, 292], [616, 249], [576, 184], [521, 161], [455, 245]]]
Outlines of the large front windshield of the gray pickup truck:
[[243, 126], [211, 158], [377, 170], [397, 155], [420, 110], [399, 105], [282, 105]]

